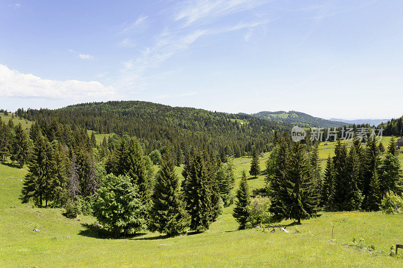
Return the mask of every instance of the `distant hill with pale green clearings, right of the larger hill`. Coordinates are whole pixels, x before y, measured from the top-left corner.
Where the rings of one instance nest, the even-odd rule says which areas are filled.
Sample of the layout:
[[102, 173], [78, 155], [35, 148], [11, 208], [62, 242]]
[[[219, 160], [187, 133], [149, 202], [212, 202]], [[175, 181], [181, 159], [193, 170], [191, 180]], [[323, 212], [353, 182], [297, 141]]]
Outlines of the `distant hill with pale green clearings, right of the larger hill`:
[[293, 125], [298, 125], [300, 127], [342, 127], [344, 125], [348, 125], [345, 122], [339, 121], [330, 121], [319, 117], [313, 117], [311, 115], [289, 111], [288, 113], [285, 111], [278, 112], [258, 112], [256, 114], [252, 114], [252, 116], [262, 119], [267, 119], [275, 122], [284, 122]]

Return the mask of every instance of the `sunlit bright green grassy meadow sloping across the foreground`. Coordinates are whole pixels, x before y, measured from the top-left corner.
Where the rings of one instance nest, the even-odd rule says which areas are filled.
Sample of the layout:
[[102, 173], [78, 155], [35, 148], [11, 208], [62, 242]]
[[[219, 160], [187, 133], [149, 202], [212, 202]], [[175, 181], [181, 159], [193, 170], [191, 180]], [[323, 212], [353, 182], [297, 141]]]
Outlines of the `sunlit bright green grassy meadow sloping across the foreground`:
[[[261, 168], [267, 156], [260, 158]], [[234, 162], [238, 185], [241, 170], [249, 169], [250, 158], [237, 158]], [[177, 168], [179, 174], [180, 171], [181, 167]], [[287, 234], [279, 230], [276, 233], [258, 229], [238, 231], [231, 215], [233, 207], [229, 207], [204, 233], [166, 238], [144, 232], [111, 239], [107, 232], [93, 227], [95, 219], [91, 216], [79, 215], [71, 220], [61, 215], [61, 209], [21, 204], [20, 180], [25, 173], [26, 169], [0, 164], [0, 266], [403, 265], [400, 255], [388, 255], [390, 245], [403, 242], [403, 218], [399, 215], [323, 213], [321, 217], [303, 221], [302, 225], [284, 221], [282, 224], [288, 225], [290, 231]], [[248, 183], [251, 188], [260, 188], [264, 177], [260, 175]], [[354, 237], [365, 242], [362, 246], [353, 244]], [[368, 245], [373, 245], [375, 250], [367, 250]]]

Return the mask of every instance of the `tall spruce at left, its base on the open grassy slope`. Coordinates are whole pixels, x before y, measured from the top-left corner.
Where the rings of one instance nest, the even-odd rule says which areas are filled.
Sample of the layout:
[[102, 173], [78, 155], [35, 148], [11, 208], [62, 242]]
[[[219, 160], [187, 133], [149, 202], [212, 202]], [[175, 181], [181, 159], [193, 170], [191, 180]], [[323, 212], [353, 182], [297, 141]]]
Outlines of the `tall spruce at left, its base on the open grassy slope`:
[[33, 155], [28, 163], [28, 173], [25, 176], [25, 181], [21, 193], [23, 203], [28, 203], [33, 200], [36, 205], [42, 207], [43, 198], [46, 191], [46, 144], [42, 135], [38, 135], [33, 148]]

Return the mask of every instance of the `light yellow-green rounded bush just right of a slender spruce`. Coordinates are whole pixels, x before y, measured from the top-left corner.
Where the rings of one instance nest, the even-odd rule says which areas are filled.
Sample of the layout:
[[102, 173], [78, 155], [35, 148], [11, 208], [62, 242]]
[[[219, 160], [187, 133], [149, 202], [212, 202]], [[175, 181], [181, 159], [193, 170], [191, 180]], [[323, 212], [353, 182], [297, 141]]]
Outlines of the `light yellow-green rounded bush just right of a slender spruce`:
[[272, 202], [267, 197], [255, 197], [248, 206], [248, 225], [253, 227], [260, 224], [268, 224], [273, 221], [273, 213], [269, 211]]

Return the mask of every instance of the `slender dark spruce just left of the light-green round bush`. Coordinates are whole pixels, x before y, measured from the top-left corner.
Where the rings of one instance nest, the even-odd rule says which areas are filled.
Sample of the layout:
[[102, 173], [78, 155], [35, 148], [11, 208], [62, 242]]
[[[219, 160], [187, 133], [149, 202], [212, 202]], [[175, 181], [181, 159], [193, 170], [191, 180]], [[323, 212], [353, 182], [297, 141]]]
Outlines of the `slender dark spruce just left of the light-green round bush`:
[[242, 178], [239, 184], [239, 189], [236, 192], [235, 208], [232, 216], [239, 223], [239, 230], [246, 228], [247, 219], [249, 217], [248, 206], [250, 204], [250, 195], [248, 181], [245, 170], [242, 171]]

